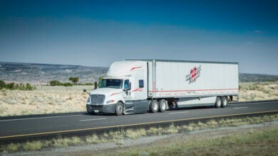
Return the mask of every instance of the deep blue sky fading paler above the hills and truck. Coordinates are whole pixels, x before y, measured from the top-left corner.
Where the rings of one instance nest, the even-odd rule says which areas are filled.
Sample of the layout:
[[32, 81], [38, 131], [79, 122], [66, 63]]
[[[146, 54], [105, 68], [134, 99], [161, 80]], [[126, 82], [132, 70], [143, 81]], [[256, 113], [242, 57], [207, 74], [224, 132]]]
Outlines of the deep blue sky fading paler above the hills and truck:
[[278, 74], [277, 1], [2, 1], [0, 61], [240, 62]]

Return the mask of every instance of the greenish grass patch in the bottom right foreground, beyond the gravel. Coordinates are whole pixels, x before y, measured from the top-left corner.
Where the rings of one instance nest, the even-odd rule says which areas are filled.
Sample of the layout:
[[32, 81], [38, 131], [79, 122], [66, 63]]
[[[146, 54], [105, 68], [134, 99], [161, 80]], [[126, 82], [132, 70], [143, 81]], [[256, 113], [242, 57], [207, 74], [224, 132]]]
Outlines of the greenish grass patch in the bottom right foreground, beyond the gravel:
[[97, 151], [96, 155], [278, 155], [277, 143], [276, 127], [220, 136], [179, 135], [150, 145]]

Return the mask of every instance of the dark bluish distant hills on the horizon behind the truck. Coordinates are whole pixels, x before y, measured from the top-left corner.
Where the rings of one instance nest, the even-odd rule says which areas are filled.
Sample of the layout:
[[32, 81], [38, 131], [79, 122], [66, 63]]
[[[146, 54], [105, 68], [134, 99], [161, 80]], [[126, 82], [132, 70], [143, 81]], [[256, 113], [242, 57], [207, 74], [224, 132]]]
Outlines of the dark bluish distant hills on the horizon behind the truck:
[[[105, 75], [107, 70], [108, 67], [0, 62], [0, 79], [6, 82], [46, 84], [51, 80], [68, 82], [69, 77], [79, 77], [79, 82], [86, 83], [98, 81], [98, 77]], [[240, 73], [240, 82], [267, 81], [278, 81], [278, 75]]]

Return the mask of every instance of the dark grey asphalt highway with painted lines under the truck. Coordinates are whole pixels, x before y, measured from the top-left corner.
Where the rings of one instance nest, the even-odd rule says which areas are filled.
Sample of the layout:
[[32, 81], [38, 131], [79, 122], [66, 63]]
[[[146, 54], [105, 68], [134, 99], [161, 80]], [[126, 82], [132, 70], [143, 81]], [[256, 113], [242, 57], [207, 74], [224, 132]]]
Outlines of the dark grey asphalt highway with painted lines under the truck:
[[170, 110], [165, 113], [141, 113], [125, 116], [108, 114], [33, 116], [30, 118], [1, 118], [0, 140], [6, 138], [28, 137], [31, 135], [78, 132], [120, 126], [132, 126], [165, 121], [182, 121], [194, 118], [239, 115], [246, 113], [278, 112], [278, 101], [230, 104], [226, 108], [195, 107]]

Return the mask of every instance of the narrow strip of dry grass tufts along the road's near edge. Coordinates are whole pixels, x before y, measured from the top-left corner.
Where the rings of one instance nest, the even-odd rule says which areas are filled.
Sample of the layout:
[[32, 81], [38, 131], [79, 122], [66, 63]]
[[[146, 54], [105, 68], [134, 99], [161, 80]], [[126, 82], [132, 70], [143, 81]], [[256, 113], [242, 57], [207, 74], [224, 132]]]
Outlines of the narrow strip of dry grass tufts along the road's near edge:
[[[98, 144], [98, 143], [115, 143], [116, 145], [123, 145], [124, 139], [137, 139], [145, 136], [158, 136], [158, 135], [168, 135], [175, 133], [189, 133], [194, 130], [208, 130], [210, 128], [217, 127], [227, 127], [227, 126], [242, 126], [248, 124], [264, 123], [269, 121], [278, 121], [278, 113], [270, 116], [258, 116], [258, 117], [246, 117], [246, 118], [231, 118], [222, 119], [220, 121], [207, 121], [205, 123], [190, 123], [184, 126], [170, 125], [168, 127], [154, 128], [150, 127], [148, 129], [127, 129], [110, 131], [108, 133], [103, 133], [101, 135], [88, 135], [86, 137], [71, 137], [71, 138], [53, 138], [52, 140], [42, 140], [27, 143], [11, 143], [9, 145], [3, 145], [0, 147], [0, 152], [16, 152], [22, 150], [41, 150], [41, 148], [48, 147], [68, 147], [70, 145], [84, 145], [84, 144]], [[237, 142], [235, 142], [237, 143]], [[137, 151], [140, 152], [140, 151]]]

